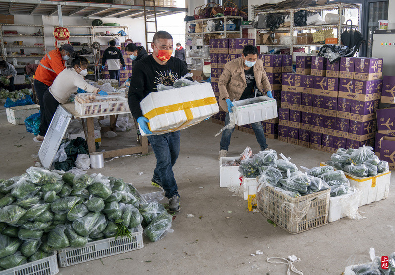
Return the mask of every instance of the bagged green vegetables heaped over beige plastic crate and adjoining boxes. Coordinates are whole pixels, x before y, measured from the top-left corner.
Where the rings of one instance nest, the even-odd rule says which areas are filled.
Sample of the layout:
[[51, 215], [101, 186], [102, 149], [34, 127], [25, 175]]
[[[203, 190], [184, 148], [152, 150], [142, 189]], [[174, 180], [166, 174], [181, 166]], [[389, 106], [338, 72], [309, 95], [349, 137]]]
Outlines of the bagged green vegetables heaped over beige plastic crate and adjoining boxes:
[[346, 194], [350, 182], [343, 171], [331, 166], [319, 166], [302, 172], [283, 154], [278, 159], [275, 150], [261, 151], [253, 155], [249, 147], [240, 156], [239, 172], [245, 177], [258, 177], [258, 190], [272, 186], [291, 197], [301, 197], [330, 189], [330, 196]]

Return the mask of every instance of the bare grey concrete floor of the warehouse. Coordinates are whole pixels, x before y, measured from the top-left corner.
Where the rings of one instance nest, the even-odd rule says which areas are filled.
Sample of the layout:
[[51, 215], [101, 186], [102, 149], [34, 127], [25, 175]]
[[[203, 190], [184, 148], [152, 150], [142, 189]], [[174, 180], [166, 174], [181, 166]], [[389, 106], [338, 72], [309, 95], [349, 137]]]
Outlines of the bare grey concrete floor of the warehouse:
[[[304, 274], [340, 275], [350, 264], [368, 262], [370, 247], [380, 256], [389, 256], [395, 251], [394, 172], [388, 198], [359, 208], [367, 219], [343, 218], [292, 235], [273, 227], [260, 213], [248, 212], [246, 201], [219, 187], [220, 137], [214, 134], [220, 129], [221, 126], [205, 121], [182, 131], [181, 153], [174, 167], [181, 212], [173, 221], [173, 233], [156, 243], [144, 238], [144, 248], [103, 258], [102, 262], [95, 260], [60, 268], [59, 274], [130, 274], [131, 271], [134, 274], [286, 274], [285, 265], [267, 263], [266, 258], [296, 255], [301, 261], [295, 266]], [[0, 108], [0, 133], [3, 156], [0, 178], [20, 175], [34, 165], [35, 159], [31, 156], [37, 154], [40, 145], [33, 142], [33, 134], [27, 133], [24, 125], [7, 123], [3, 107]], [[133, 136], [134, 131], [121, 133], [112, 143], [124, 146], [135, 140]], [[103, 138], [103, 146], [106, 141]], [[270, 148], [291, 157], [298, 166], [318, 166], [330, 158], [328, 153], [278, 140], [267, 142]], [[259, 151], [253, 135], [235, 131], [229, 155], [239, 155], [246, 146]], [[123, 178], [133, 183], [140, 193], [148, 193], [158, 190], [149, 184], [155, 163], [153, 154], [130, 156], [114, 159], [102, 169], [88, 170], [88, 174], [100, 172]], [[144, 174], [138, 175], [139, 172]], [[187, 218], [189, 213], [195, 218]], [[262, 250], [263, 255], [250, 256], [256, 250]]]

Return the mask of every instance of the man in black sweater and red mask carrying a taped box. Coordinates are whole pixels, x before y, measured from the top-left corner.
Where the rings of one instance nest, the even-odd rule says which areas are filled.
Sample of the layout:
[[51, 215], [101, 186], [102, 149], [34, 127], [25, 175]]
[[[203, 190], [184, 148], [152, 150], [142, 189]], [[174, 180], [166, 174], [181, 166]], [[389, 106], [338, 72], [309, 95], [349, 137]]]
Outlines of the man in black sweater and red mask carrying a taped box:
[[[173, 37], [168, 32], [156, 32], [152, 41], [153, 53], [144, 62], [134, 66], [128, 92], [132, 115], [146, 134], [152, 132], [148, 127], [149, 120], [142, 114], [140, 102], [149, 93], [157, 92], [158, 84], [172, 86], [174, 81], [188, 73], [185, 63], [172, 57]], [[180, 209], [178, 187], [173, 174], [173, 165], [180, 150], [180, 137], [180, 131], [148, 136], [156, 157], [151, 184], [165, 190], [165, 196], [169, 199], [169, 210], [173, 212]]]

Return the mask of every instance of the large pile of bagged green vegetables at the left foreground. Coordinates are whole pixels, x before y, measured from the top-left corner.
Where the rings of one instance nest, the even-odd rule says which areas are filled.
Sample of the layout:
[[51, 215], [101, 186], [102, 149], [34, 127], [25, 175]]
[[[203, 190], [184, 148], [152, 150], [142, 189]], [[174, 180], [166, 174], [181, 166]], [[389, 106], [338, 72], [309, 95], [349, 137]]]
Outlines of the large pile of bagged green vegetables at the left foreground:
[[[21, 176], [2, 179], [0, 270], [48, 257], [54, 250], [130, 237], [145, 219], [139, 211], [144, 202], [132, 184], [101, 174], [30, 167]], [[151, 213], [149, 221], [156, 216]]]

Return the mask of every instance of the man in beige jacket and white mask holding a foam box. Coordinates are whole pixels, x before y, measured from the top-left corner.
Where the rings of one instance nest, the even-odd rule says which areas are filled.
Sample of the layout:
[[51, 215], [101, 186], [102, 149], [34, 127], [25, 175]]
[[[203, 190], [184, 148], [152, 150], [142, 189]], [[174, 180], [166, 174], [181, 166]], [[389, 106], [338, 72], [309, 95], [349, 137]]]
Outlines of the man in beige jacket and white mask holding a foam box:
[[[269, 79], [263, 69], [263, 61], [258, 59], [258, 49], [255, 46], [246, 45], [241, 57], [226, 63], [222, 75], [219, 77], [218, 88], [219, 106], [226, 111], [225, 125], [229, 123], [229, 112], [232, 112], [233, 107], [232, 101], [253, 98], [256, 88], [262, 95], [266, 94], [273, 98]], [[262, 123], [252, 123], [251, 126], [261, 150], [267, 150]], [[233, 131], [234, 127], [222, 132], [218, 159], [227, 156]]]

